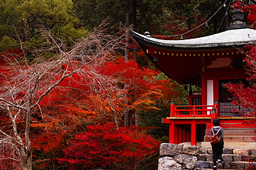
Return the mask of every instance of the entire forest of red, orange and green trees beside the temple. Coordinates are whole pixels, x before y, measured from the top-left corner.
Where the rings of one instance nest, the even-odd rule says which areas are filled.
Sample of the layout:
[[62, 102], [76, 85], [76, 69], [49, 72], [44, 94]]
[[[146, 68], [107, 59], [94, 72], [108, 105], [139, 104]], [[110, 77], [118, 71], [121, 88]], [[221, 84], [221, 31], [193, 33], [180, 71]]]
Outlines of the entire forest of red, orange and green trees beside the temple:
[[202, 37], [231, 14], [225, 0], [1, 0], [1, 169], [156, 169], [161, 119], [190, 86], [154, 68], [129, 31]]

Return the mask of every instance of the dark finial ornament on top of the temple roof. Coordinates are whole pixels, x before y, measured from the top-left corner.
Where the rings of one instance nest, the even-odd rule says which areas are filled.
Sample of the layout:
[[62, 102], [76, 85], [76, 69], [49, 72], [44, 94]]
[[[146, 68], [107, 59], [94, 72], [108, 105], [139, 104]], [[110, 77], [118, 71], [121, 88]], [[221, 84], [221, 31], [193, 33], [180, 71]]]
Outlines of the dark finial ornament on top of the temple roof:
[[[235, 4], [237, 1], [242, 1], [242, 0], [233, 0], [233, 4]], [[228, 30], [249, 28], [246, 25], [246, 22], [242, 21], [244, 19], [244, 14], [240, 8], [235, 7], [235, 9], [233, 10], [232, 19], [234, 23], [230, 23], [230, 27], [228, 27]]]

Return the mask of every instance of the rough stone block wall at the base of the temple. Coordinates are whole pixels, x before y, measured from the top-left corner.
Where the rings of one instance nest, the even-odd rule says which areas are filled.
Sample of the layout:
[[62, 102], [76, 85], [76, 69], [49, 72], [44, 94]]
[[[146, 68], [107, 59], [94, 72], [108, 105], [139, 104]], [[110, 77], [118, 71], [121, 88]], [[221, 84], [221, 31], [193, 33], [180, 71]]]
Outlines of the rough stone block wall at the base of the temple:
[[[212, 169], [212, 149], [183, 144], [162, 143], [158, 170]], [[223, 169], [246, 169], [255, 157], [256, 149], [224, 149]]]

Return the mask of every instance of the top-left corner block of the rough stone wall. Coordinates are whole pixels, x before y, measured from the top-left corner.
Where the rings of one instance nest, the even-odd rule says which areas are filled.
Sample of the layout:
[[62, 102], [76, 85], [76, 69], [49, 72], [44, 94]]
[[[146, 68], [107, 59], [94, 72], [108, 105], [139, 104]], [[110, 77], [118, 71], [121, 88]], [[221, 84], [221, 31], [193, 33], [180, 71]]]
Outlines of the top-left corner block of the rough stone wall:
[[181, 154], [183, 149], [183, 144], [170, 144], [170, 143], [162, 143], [160, 145], [160, 155], [165, 156], [165, 155], [179, 155]]

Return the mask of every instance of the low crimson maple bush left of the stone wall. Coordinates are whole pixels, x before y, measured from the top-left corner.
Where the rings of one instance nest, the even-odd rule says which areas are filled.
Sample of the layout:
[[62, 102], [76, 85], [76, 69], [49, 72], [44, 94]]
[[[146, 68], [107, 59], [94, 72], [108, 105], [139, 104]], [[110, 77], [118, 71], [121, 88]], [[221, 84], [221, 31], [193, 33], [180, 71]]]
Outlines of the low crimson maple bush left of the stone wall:
[[64, 149], [65, 158], [58, 161], [70, 169], [104, 166], [136, 169], [140, 162], [157, 153], [160, 142], [136, 126], [116, 129], [114, 124], [88, 126], [86, 133], [76, 135]]

